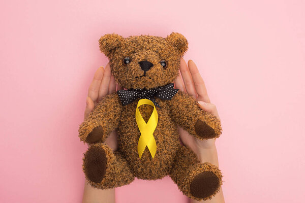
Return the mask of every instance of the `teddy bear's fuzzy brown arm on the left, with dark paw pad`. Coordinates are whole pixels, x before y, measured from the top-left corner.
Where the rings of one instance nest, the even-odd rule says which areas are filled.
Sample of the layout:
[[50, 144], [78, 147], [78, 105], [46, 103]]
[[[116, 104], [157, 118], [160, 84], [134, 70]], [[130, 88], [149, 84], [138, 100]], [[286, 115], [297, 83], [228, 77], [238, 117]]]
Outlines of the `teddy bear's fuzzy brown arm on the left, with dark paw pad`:
[[120, 116], [121, 103], [117, 94], [106, 95], [80, 125], [80, 140], [89, 144], [105, 142], [109, 133], [117, 128]]

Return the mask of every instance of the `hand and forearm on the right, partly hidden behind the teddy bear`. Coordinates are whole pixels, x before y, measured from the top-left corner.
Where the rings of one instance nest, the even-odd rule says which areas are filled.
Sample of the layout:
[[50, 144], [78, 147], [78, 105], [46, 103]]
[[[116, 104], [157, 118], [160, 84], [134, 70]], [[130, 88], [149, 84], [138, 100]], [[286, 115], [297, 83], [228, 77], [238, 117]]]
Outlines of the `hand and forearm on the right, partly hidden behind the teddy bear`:
[[[216, 106], [210, 103], [204, 81], [200, 76], [196, 64], [192, 60], [189, 60], [187, 64], [186, 61], [181, 58], [180, 73], [181, 75], [179, 75], [175, 80], [176, 88], [186, 91], [189, 95], [196, 98], [201, 109], [220, 119]], [[219, 166], [217, 149], [215, 145], [216, 139], [199, 140], [191, 136], [189, 132], [181, 127], [178, 127], [178, 130], [182, 143], [193, 150], [201, 163], [210, 162], [216, 166]], [[220, 191], [212, 199], [205, 201], [196, 201], [191, 199], [190, 202], [224, 203], [225, 199], [222, 188], [220, 188]]]

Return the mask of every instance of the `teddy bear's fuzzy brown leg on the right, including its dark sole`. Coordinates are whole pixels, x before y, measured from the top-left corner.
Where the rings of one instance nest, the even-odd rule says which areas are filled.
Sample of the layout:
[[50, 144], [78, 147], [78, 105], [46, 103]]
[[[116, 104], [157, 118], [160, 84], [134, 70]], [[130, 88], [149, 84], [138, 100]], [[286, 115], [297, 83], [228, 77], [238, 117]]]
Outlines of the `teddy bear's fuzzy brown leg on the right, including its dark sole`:
[[185, 195], [195, 200], [212, 198], [222, 184], [219, 168], [208, 162], [200, 163], [185, 146], [180, 146], [176, 153], [170, 177]]

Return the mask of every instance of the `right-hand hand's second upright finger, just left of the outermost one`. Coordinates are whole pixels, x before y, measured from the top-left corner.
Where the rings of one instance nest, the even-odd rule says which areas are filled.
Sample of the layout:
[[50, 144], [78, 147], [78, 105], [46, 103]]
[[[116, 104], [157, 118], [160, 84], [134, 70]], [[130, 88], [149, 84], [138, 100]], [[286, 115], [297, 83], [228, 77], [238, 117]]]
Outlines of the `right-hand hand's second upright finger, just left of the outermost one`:
[[188, 94], [197, 98], [197, 93], [193, 83], [193, 78], [191, 76], [187, 63], [183, 58], [181, 58], [180, 60], [180, 73]]

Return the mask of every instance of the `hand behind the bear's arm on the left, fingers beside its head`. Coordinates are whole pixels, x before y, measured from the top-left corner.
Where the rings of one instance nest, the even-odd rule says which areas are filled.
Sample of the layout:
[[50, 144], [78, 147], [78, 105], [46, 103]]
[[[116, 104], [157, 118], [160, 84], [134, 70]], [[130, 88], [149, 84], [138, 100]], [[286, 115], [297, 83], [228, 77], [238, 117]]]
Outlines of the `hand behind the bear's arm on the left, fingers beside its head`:
[[[115, 92], [117, 89], [121, 89], [121, 87], [116, 85], [115, 80], [111, 75], [109, 63], [106, 65], [105, 70], [103, 66], [99, 67], [94, 74], [93, 81], [89, 86], [84, 119], [88, 117], [89, 113], [92, 112], [92, 110], [104, 96]], [[117, 134], [115, 131], [109, 134], [109, 137], [106, 139], [105, 143], [113, 151], [118, 149]]]

